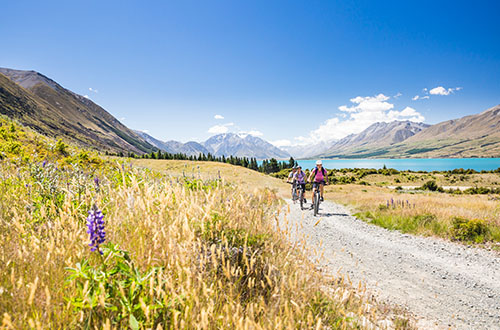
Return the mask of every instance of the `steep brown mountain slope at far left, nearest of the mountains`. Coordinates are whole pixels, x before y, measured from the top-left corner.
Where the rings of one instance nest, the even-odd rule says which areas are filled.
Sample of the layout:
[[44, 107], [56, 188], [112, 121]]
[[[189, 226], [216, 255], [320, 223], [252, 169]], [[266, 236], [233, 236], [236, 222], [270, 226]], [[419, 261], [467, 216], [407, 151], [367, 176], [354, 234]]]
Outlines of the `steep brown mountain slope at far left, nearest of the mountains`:
[[137, 154], [155, 149], [91, 100], [35, 71], [0, 68], [0, 113], [82, 147]]

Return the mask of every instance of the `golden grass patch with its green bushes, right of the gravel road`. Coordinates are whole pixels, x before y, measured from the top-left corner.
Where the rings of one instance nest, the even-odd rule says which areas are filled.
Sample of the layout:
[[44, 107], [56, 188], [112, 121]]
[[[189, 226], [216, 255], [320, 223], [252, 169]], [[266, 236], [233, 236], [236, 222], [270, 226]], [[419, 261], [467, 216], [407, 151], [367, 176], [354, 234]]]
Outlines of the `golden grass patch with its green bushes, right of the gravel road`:
[[329, 187], [327, 196], [354, 207], [361, 219], [387, 229], [471, 243], [500, 242], [500, 204], [490, 196], [356, 185]]

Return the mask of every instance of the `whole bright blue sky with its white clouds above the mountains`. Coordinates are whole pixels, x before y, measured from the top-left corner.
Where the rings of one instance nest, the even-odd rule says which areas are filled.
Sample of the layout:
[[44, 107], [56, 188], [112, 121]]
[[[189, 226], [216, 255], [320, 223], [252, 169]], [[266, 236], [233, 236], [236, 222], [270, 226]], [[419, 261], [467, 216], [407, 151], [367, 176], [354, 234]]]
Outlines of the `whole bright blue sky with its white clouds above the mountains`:
[[499, 14], [497, 1], [8, 1], [0, 66], [162, 140], [293, 145], [500, 104]]

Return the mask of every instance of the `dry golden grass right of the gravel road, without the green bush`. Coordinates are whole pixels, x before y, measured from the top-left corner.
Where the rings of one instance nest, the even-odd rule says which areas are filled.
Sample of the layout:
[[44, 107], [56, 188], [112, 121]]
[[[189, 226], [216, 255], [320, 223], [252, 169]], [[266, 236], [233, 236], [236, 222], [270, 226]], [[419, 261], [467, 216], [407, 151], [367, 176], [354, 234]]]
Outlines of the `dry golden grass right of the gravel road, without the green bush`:
[[[497, 235], [500, 230], [500, 203], [494, 196], [398, 192], [385, 187], [354, 184], [328, 186], [325, 196], [350, 206], [353, 212], [360, 212], [360, 215], [370, 212], [368, 220], [383, 219], [374, 223], [389, 229], [453, 238], [452, 221], [453, 218], [460, 217], [484, 220], [492, 230], [493, 239], [499, 238]], [[396, 202], [393, 207], [391, 199], [403, 202], [404, 206], [397, 205]], [[387, 208], [388, 202], [390, 205]], [[429, 215], [435, 218], [433, 225], [411, 224], [412, 218]]]

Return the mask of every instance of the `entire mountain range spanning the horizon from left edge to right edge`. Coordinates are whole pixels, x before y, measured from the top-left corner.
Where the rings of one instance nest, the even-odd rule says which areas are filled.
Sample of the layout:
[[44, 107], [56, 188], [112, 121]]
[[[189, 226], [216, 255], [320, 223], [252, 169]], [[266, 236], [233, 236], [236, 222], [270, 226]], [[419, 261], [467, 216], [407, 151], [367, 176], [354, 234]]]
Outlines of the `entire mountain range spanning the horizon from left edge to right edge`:
[[375, 123], [334, 142], [278, 149], [252, 136], [226, 133], [203, 143], [160, 141], [133, 131], [90, 99], [36, 72], [0, 68], [0, 114], [44, 135], [110, 152], [295, 158], [500, 157], [500, 105], [432, 126], [410, 121]]

